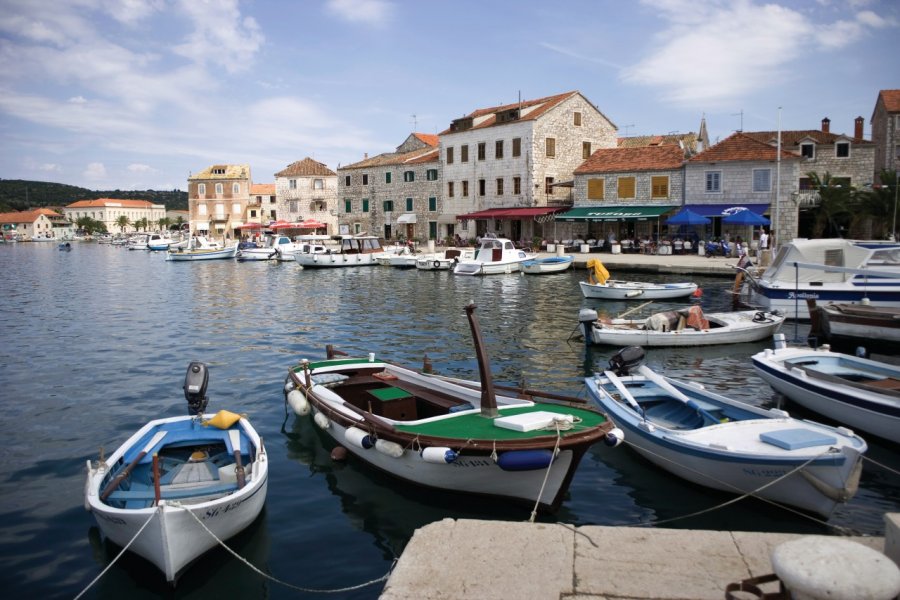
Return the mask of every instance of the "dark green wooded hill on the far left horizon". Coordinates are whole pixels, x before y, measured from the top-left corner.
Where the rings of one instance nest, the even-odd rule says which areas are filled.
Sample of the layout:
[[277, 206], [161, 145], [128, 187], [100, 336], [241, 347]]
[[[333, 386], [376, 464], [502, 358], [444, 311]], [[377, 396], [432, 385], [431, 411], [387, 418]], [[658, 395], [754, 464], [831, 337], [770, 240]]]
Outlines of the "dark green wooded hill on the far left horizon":
[[162, 204], [168, 210], [187, 210], [187, 192], [172, 190], [110, 190], [97, 191], [87, 188], [23, 179], [0, 179], [0, 212], [29, 210], [42, 206], [66, 206], [78, 200], [119, 198], [123, 200], [147, 200]]

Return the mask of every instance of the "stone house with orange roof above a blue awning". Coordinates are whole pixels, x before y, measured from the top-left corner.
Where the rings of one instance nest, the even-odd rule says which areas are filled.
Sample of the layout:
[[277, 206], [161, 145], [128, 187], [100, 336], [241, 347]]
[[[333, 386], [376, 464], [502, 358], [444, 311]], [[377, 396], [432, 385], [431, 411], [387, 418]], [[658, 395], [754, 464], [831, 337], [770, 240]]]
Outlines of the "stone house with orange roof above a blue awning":
[[[798, 154], [738, 132], [700, 152], [685, 163], [684, 202], [712, 219], [708, 233], [718, 237], [752, 239], [749, 226], [729, 227], [722, 219], [735, 210], [768, 214], [778, 243], [794, 239], [798, 228]], [[780, 187], [778, 182], [780, 181]]]

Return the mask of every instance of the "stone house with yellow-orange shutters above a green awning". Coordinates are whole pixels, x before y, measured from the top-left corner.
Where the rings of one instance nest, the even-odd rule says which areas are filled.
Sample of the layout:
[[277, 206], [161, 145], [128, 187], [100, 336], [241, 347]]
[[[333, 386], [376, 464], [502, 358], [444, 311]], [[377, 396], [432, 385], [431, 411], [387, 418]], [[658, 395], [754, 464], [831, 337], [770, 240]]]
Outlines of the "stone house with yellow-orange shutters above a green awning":
[[582, 239], [652, 237], [660, 218], [683, 203], [680, 144], [605, 148], [575, 169], [575, 206], [558, 221], [582, 223]]

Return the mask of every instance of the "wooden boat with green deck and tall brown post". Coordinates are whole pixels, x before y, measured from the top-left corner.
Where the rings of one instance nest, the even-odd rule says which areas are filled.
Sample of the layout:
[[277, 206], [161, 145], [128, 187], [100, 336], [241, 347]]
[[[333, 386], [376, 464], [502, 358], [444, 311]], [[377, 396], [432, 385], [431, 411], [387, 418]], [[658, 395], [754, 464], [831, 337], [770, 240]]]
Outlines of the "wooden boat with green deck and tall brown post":
[[[620, 440], [583, 399], [534, 390], [498, 394], [475, 306], [466, 307], [480, 382], [376, 359], [303, 360], [286, 402], [366, 464], [406, 482], [554, 511], [587, 449]], [[527, 397], [526, 397], [527, 396]]]

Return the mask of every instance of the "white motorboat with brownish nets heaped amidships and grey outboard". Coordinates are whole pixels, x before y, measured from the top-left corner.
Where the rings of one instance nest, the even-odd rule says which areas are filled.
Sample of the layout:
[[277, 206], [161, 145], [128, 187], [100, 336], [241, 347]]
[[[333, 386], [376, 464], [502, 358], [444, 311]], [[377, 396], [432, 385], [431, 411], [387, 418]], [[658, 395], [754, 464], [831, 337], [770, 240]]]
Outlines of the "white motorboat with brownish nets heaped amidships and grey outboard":
[[782, 315], [756, 310], [704, 313], [699, 306], [658, 312], [644, 319], [598, 318], [583, 308], [578, 321], [588, 344], [610, 346], [712, 346], [756, 342], [774, 335]]

